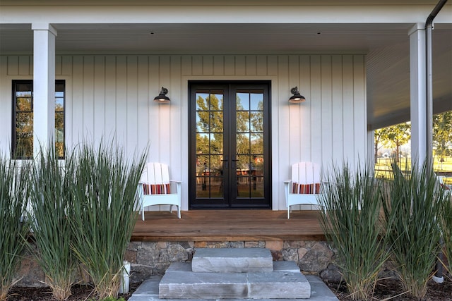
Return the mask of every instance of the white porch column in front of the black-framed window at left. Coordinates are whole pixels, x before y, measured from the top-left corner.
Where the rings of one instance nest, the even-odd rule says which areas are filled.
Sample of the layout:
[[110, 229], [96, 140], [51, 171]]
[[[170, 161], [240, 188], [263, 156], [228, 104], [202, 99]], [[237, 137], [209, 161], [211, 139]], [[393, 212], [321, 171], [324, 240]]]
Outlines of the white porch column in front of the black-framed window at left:
[[48, 23], [32, 24], [33, 44], [33, 155], [42, 147], [54, 147], [55, 37]]

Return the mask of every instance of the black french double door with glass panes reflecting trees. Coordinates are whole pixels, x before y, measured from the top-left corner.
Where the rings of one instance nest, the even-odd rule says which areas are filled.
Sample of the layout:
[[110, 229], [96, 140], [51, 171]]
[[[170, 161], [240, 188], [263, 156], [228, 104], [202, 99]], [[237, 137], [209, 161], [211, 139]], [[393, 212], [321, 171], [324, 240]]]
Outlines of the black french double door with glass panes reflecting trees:
[[270, 208], [270, 82], [190, 82], [189, 206]]

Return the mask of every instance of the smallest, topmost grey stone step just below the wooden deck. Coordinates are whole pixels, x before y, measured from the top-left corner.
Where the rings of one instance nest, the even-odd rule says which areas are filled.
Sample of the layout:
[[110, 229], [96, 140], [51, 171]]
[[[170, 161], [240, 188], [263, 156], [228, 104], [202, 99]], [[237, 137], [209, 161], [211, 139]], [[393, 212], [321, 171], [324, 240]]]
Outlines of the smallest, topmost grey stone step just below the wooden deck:
[[273, 271], [273, 258], [268, 249], [199, 248], [193, 256], [191, 268], [194, 272]]

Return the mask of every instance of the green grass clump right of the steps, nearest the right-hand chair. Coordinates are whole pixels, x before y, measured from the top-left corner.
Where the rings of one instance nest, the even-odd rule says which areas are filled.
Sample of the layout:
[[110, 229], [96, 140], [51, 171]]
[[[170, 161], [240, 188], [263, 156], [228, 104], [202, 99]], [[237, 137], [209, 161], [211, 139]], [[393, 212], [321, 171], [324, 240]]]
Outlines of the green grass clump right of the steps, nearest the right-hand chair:
[[382, 195], [373, 168], [344, 164], [326, 175], [328, 188], [319, 201], [326, 208], [321, 226], [336, 250], [338, 264], [352, 300], [369, 300], [386, 261]]

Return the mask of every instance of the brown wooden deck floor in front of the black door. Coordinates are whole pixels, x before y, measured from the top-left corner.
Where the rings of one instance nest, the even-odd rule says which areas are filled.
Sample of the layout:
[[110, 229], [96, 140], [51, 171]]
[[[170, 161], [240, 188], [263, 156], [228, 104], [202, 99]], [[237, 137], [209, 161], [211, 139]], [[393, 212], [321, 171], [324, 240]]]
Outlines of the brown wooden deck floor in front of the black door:
[[173, 211], [145, 211], [132, 241], [325, 240], [319, 211], [192, 210], [177, 219]]

